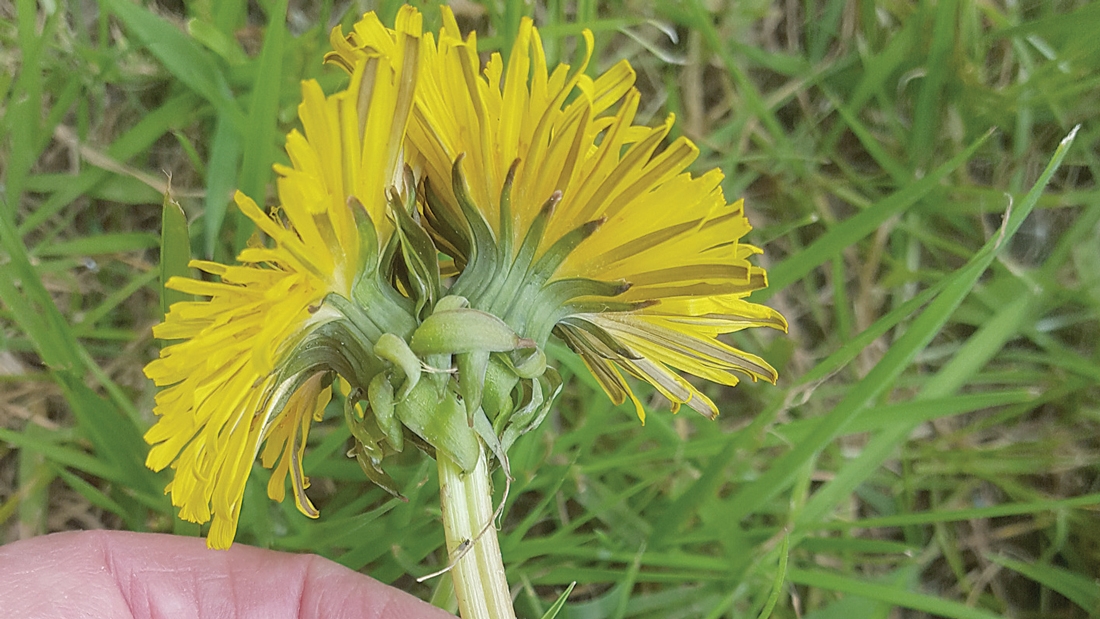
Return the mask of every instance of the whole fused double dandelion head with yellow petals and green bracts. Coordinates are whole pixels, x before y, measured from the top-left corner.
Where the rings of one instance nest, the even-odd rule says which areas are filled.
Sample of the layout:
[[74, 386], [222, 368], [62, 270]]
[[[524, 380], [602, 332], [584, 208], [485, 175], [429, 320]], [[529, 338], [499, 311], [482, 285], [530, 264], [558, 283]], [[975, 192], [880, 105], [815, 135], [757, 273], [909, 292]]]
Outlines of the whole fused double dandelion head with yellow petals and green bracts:
[[290, 477], [300, 511], [318, 515], [301, 462], [333, 383], [349, 455], [398, 494], [382, 463], [406, 441], [464, 472], [486, 447], [507, 461], [561, 389], [541, 350], [552, 333], [642, 421], [624, 372], [710, 418], [680, 372], [776, 380], [719, 339], [787, 328], [745, 300], [766, 276], [739, 242], [743, 203], [726, 202], [719, 172], [685, 172], [697, 150], [666, 145], [671, 117], [636, 124], [629, 64], [590, 78], [585, 32], [580, 66], [551, 71], [525, 20], [507, 66], [494, 55], [480, 70], [474, 35], [442, 11], [438, 41], [409, 7], [394, 29], [369, 13], [333, 31], [326, 59], [349, 86], [302, 85], [279, 207], [237, 196], [271, 242], [239, 265], [193, 262], [218, 281], [168, 281], [206, 300], [154, 330], [175, 342], [145, 368], [163, 387], [146, 464], [175, 469], [173, 504], [211, 521], [211, 546], [232, 542], [257, 457], [271, 498]]

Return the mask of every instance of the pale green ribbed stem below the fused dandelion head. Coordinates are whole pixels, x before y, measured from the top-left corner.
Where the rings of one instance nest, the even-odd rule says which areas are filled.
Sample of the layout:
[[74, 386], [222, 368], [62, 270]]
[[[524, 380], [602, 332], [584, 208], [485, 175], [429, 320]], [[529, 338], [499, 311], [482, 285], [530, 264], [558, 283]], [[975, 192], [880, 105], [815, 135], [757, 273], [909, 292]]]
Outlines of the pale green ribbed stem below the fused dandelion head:
[[[441, 450], [436, 451], [436, 462], [447, 552], [454, 562], [451, 579], [459, 614], [462, 619], [515, 619], [496, 527], [491, 522], [493, 490], [484, 447], [477, 465], [469, 473], [463, 473]], [[473, 546], [462, 554], [470, 544]]]

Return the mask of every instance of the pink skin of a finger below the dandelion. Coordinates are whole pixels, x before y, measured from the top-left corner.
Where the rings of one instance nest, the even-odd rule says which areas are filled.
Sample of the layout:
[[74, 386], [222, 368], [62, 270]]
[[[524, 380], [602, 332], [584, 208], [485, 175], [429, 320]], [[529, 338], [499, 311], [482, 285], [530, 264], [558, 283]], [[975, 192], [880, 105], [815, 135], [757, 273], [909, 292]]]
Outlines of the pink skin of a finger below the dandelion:
[[0, 617], [454, 619], [320, 556], [123, 531], [0, 546]]

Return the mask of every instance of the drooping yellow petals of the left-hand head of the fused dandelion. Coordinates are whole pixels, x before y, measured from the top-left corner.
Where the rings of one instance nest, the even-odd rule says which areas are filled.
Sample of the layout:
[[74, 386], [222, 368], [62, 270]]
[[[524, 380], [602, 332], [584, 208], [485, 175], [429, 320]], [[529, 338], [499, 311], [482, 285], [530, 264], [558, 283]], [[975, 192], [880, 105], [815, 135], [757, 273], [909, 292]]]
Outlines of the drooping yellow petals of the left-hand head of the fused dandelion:
[[305, 134], [287, 135], [290, 166], [276, 166], [280, 208], [265, 214], [248, 196], [235, 197], [271, 246], [244, 250], [239, 266], [191, 263], [220, 281], [168, 281], [208, 298], [174, 305], [154, 329], [162, 340], [182, 342], [145, 367], [165, 387], [156, 398], [160, 420], [145, 434], [153, 445], [146, 464], [175, 468], [167, 488], [173, 505], [186, 520], [212, 519], [212, 548], [233, 541], [245, 482], [264, 442], [262, 464], [275, 467], [268, 496], [283, 499], [289, 473], [298, 508], [317, 516], [304, 491], [309, 482], [301, 455], [332, 377], [293, 352], [339, 318], [322, 301], [352, 296], [372, 250], [363, 246], [356, 228], [362, 213], [353, 209], [364, 209], [377, 228], [376, 243], [393, 234], [386, 189], [403, 174], [420, 27], [420, 15], [403, 10], [396, 31], [374, 33], [381, 48], [348, 66], [351, 82], [342, 92], [326, 97], [316, 81], [302, 84]]

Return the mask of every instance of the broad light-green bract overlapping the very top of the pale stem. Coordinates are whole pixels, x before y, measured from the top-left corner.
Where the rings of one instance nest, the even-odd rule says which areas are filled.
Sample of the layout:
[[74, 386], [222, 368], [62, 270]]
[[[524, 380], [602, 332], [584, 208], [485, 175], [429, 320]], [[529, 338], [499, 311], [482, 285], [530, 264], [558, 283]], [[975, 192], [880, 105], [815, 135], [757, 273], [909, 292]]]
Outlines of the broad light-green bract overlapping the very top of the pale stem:
[[477, 435], [466, 424], [465, 409], [449, 390], [440, 393], [431, 382], [421, 380], [397, 404], [397, 418], [463, 471], [473, 471], [477, 464]]

